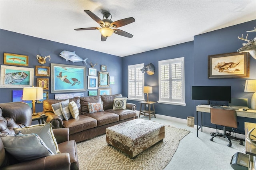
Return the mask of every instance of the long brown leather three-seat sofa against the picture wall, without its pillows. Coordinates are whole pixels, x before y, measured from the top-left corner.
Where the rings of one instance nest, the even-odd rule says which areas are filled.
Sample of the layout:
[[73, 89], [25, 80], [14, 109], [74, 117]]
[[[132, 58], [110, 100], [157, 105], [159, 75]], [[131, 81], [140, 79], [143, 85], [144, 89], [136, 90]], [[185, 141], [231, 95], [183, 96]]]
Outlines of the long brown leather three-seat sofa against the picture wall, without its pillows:
[[[44, 100], [43, 113], [48, 115], [46, 122], [50, 122], [52, 128], [69, 128], [70, 140], [74, 139], [76, 142], [80, 142], [104, 134], [107, 127], [136, 118], [136, 105], [133, 103], [126, 103], [125, 110], [113, 110], [114, 98], [117, 96], [120, 97], [122, 95], [99, 95], [69, 99], [70, 102], [75, 101], [78, 105], [79, 116], [77, 119], [70, 118], [66, 121], [54, 115], [52, 104], [59, 103], [63, 100]], [[104, 111], [89, 113], [88, 102], [103, 102]]]

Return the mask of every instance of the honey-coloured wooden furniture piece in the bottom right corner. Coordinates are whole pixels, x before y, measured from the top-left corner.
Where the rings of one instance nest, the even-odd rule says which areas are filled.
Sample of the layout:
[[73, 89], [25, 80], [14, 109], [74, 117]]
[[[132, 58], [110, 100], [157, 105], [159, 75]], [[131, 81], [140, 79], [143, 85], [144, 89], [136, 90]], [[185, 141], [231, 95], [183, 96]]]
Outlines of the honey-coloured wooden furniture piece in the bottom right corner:
[[[245, 134], [245, 139], [248, 137], [247, 134], [248, 132], [252, 129], [256, 127], [256, 123], [249, 123], [249, 122], [245, 122], [244, 123], [244, 134]], [[254, 130], [251, 134], [253, 134], [254, 136], [256, 136], [256, 131]], [[254, 138], [253, 138], [254, 139]], [[247, 140], [245, 140], [245, 153], [249, 154], [249, 167], [248, 169], [255, 169], [255, 158], [256, 158], [256, 146], [250, 144]]]

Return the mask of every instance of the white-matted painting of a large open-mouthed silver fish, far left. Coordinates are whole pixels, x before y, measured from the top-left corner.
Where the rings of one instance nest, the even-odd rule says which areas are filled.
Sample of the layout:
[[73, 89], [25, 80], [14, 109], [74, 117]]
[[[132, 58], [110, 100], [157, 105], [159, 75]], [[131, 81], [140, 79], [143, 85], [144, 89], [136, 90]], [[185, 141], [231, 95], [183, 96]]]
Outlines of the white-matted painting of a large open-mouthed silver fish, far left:
[[34, 68], [1, 65], [0, 88], [32, 87]]

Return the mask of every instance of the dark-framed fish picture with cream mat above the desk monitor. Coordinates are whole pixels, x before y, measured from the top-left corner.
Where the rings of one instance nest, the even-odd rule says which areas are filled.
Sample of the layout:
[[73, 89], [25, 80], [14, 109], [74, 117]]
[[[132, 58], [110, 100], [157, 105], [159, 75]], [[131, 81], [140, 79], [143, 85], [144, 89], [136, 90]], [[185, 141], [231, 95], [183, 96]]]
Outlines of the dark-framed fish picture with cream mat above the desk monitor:
[[249, 53], [208, 55], [208, 79], [249, 77]]

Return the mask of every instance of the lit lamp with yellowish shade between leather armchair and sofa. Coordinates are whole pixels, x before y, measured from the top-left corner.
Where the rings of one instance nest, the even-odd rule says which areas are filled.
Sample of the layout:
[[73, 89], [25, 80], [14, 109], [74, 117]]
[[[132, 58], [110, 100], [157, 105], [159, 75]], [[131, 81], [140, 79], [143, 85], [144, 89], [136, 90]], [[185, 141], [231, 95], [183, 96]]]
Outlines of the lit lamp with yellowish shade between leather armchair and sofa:
[[36, 113], [35, 100], [43, 99], [43, 88], [42, 87], [24, 87], [22, 100], [32, 100], [33, 116], [38, 115]]

